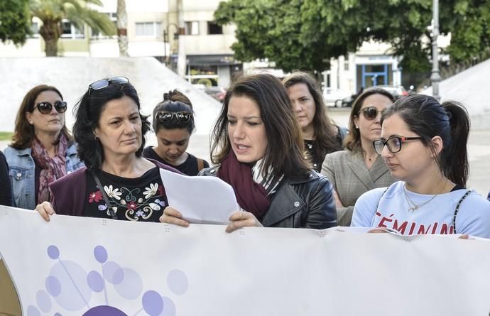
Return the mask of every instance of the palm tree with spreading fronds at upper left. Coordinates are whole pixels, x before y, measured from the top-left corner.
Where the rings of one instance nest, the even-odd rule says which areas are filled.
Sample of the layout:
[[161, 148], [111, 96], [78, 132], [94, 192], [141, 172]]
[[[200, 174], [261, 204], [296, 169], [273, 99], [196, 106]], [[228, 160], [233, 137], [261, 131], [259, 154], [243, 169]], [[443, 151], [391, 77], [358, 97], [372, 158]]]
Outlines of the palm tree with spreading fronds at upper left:
[[39, 29], [45, 41], [46, 56], [58, 55], [58, 39], [61, 37], [61, 21], [70, 20], [78, 29], [87, 23], [95, 32], [105, 35], [116, 33], [114, 23], [104, 13], [89, 9], [87, 4], [102, 6], [100, 0], [30, 0], [29, 9], [32, 16], [43, 22]]

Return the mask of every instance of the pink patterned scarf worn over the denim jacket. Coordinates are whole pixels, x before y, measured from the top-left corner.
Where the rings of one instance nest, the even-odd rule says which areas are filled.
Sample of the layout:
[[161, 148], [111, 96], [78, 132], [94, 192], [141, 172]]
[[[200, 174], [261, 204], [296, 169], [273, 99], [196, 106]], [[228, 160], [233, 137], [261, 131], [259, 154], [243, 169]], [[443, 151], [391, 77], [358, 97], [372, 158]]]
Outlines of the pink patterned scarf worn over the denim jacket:
[[50, 201], [48, 185], [54, 180], [66, 175], [65, 152], [67, 139], [65, 135], [61, 134], [60, 142], [58, 143], [58, 153], [53, 158], [48, 155], [48, 152], [37, 137], [34, 138], [31, 147], [33, 158], [41, 167], [38, 191], [38, 204], [40, 204], [44, 201]]

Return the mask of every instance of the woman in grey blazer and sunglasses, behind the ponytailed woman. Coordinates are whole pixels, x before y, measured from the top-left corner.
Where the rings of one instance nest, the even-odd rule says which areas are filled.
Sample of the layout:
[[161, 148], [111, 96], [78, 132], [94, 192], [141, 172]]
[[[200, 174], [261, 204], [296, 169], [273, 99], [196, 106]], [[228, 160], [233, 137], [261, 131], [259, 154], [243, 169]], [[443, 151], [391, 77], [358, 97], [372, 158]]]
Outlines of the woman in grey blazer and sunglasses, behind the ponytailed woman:
[[395, 98], [384, 89], [364, 90], [352, 105], [349, 134], [344, 140], [346, 150], [325, 157], [322, 174], [334, 186], [340, 226], [351, 224], [356, 200], [364, 192], [395, 182], [373, 148], [373, 141], [381, 136], [381, 112], [393, 102]]

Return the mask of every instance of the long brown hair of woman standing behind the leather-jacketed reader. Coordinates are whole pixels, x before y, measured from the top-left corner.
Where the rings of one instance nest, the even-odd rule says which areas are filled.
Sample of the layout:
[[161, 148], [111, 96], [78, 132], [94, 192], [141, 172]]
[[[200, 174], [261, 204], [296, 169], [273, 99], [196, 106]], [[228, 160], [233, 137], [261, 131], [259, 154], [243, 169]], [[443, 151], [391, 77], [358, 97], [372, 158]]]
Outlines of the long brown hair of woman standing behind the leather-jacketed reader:
[[286, 89], [300, 83], [304, 83], [308, 87], [308, 91], [315, 102], [315, 116], [312, 121], [315, 136], [313, 150], [315, 151], [315, 155], [320, 158], [320, 165], [322, 165], [327, 153], [339, 151], [342, 149], [342, 146], [339, 146], [337, 134], [334, 132], [334, 124], [332, 124], [327, 111], [325, 111], [322, 93], [315, 79], [306, 72], [297, 71], [285, 77], [283, 80], [283, 85]]

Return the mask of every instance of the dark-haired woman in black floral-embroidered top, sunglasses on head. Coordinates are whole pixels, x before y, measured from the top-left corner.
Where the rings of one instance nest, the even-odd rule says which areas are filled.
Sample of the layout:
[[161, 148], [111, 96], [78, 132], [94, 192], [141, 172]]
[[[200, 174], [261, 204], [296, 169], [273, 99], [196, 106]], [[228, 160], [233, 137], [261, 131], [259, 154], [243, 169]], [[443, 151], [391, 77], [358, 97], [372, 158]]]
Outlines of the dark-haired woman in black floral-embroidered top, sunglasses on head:
[[134, 222], [158, 222], [168, 205], [160, 168], [141, 156], [150, 123], [140, 113], [136, 89], [126, 77], [89, 85], [76, 106], [73, 135], [87, 168], [50, 184], [53, 196], [36, 210]]

